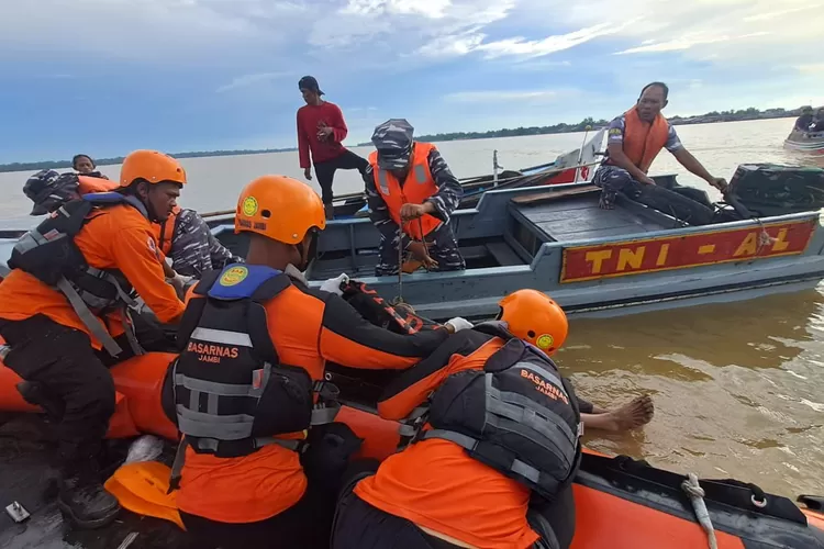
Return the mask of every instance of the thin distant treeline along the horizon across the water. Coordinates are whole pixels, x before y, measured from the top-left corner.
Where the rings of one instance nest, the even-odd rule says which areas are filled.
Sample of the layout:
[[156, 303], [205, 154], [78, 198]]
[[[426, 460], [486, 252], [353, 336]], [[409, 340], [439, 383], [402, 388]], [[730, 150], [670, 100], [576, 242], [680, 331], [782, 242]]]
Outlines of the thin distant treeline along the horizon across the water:
[[[712, 111], [706, 114], [700, 114], [697, 116], [671, 116], [668, 120], [672, 124], [709, 124], [713, 122], [736, 122], [742, 120], [760, 120], [760, 119], [782, 119], [787, 116], [798, 116], [801, 114], [801, 108], [786, 110], [786, 109], [767, 109], [761, 111], [754, 107], [749, 109], [743, 109], [738, 111]], [[545, 134], [565, 134], [572, 132], [583, 132], [587, 126], [592, 128], [605, 126], [609, 124], [608, 120], [594, 120], [591, 116], [583, 119], [577, 124], [554, 124], [552, 126], [530, 126], [530, 127], [513, 127], [502, 130], [490, 130], [489, 132], [452, 132], [448, 134], [434, 134], [434, 135], [421, 135], [416, 136], [416, 139], [425, 142], [443, 142], [443, 141], [464, 141], [464, 139], [487, 139], [491, 137], [516, 137], [520, 135], [545, 135]], [[371, 146], [370, 142], [358, 143], [357, 146]], [[296, 150], [291, 148], [267, 148], [257, 150], [208, 150], [198, 153], [179, 153], [172, 154], [176, 158], [199, 158], [204, 156], [234, 156], [234, 155], [263, 155], [266, 153], [283, 153], [288, 150]], [[116, 158], [96, 158], [94, 161], [98, 166], [108, 166], [112, 164], [121, 164], [123, 157]], [[71, 160], [51, 160], [40, 163], [13, 163], [13, 164], [1, 164], [0, 171], [30, 171], [41, 169], [58, 169], [58, 168], [70, 168]]]

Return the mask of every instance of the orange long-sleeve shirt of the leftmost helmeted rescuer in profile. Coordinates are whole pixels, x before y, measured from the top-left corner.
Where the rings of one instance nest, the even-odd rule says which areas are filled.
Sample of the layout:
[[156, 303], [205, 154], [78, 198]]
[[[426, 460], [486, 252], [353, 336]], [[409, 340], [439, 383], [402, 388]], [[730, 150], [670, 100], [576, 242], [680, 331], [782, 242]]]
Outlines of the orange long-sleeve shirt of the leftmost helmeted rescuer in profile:
[[[134, 208], [118, 204], [93, 212], [75, 244], [89, 266], [120, 270], [162, 322], [174, 323], [183, 313], [175, 289], [166, 283], [152, 223]], [[88, 334], [92, 346], [101, 348], [63, 293], [21, 269], [12, 270], [0, 283], [0, 318], [22, 321], [37, 313]]]

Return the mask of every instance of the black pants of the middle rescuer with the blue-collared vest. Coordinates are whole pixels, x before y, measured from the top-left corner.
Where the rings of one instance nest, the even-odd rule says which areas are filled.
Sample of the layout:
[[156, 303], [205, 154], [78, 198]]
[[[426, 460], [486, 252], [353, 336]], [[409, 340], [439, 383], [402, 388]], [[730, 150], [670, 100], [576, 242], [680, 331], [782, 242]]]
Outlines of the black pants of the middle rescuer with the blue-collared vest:
[[326, 492], [314, 490], [310, 482], [298, 503], [266, 520], [219, 523], [183, 512], [180, 518], [198, 549], [326, 549], [332, 509]]

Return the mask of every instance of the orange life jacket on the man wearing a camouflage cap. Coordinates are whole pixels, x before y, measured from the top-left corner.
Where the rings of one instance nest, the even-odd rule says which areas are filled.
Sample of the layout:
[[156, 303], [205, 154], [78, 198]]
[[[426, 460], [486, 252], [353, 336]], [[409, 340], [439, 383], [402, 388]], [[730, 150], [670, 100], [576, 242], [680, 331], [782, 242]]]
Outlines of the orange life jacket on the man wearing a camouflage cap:
[[[403, 228], [403, 232], [417, 240], [432, 233], [442, 223], [437, 217], [425, 214], [419, 220], [401, 223], [401, 206], [403, 204], [423, 204], [437, 192], [437, 184], [430, 171], [430, 152], [435, 148], [431, 143], [415, 142], [412, 149], [412, 164], [407, 180], [401, 187], [398, 178], [391, 171], [378, 167], [378, 152], [369, 155], [369, 164], [375, 170], [378, 192], [387, 203], [389, 215]], [[421, 231], [423, 228], [423, 231]]]

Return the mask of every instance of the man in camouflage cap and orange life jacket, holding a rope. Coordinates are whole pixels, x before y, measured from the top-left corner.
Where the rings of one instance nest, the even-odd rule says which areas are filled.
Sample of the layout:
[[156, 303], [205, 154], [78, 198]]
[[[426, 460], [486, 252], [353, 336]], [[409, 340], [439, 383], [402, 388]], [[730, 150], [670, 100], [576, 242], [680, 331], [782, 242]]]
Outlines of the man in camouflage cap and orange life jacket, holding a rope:
[[375, 276], [397, 274], [402, 246], [431, 270], [463, 270], [466, 262], [449, 226], [464, 189], [431, 143], [415, 142], [404, 119], [375, 128], [364, 175], [369, 217], [380, 231]]

